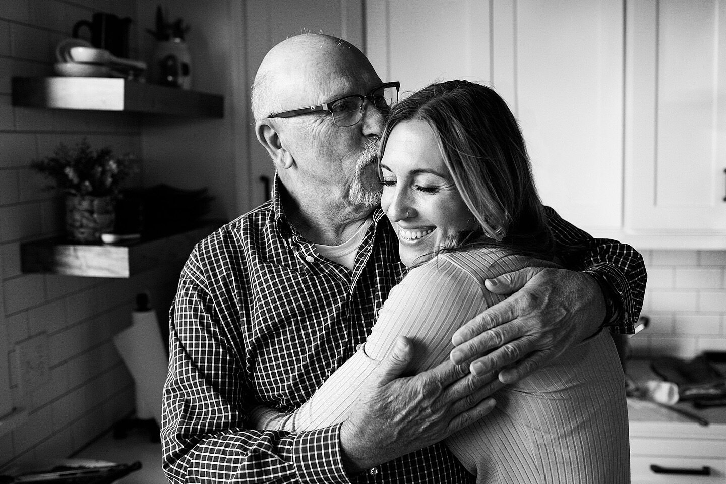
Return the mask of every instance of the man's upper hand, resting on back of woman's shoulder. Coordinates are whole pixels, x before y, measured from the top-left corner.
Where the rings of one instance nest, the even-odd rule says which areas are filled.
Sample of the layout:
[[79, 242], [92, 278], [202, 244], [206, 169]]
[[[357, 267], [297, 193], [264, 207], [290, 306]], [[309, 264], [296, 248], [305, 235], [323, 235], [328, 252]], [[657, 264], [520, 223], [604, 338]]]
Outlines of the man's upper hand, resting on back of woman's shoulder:
[[499, 380], [505, 383], [521, 380], [595, 334], [605, 317], [600, 286], [582, 272], [526, 267], [485, 284], [497, 294], [514, 294], [454, 333], [451, 360], [478, 358], [470, 364], [472, 373], [502, 370]]

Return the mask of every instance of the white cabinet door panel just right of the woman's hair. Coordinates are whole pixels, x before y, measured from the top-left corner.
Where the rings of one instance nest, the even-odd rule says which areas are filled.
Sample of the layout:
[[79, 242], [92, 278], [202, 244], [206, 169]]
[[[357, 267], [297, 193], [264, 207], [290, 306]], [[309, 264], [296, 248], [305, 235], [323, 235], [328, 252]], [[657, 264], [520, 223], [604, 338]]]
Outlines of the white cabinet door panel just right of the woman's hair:
[[521, 0], [516, 12], [516, 106], [542, 201], [595, 235], [620, 227], [622, 4]]

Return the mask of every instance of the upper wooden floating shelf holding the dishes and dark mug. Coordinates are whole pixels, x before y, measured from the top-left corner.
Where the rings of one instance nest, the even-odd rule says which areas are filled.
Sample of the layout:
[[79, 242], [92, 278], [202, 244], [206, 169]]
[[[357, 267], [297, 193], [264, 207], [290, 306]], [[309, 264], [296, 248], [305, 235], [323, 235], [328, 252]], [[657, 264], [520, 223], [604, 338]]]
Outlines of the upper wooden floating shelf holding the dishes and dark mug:
[[122, 78], [14, 77], [12, 104], [57, 110], [224, 117], [224, 97]]

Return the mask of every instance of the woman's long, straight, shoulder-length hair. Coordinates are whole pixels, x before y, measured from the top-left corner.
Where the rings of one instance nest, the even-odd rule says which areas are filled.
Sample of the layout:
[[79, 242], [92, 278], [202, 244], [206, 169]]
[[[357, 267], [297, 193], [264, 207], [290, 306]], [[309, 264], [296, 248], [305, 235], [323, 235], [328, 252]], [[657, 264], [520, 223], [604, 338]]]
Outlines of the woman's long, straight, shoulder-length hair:
[[478, 228], [452, 247], [494, 245], [551, 260], [555, 244], [539, 200], [524, 139], [507, 103], [468, 81], [433, 83], [391, 110], [381, 135], [383, 158], [391, 130], [402, 121], [431, 126], [444, 163]]

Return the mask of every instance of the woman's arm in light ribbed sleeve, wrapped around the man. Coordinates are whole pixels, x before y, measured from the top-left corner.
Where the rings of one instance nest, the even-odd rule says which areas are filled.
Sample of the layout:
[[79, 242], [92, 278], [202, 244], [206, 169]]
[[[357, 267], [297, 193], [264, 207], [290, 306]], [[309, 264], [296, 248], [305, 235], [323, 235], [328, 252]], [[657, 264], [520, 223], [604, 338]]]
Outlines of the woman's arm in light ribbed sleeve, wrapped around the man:
[[[502, 270], [513, 270], [513, 267]], [[407, 336], [414, 342], [412, 372], [421, 372], [446, 360], [451, 337], [459, 325], [501, 299], [484, 290], [482, 281], [447, 257], [413, 269], [391, 290], [364, 347], [340, 366], [300, 409], [287, 415], [281, 423], [273, 416], [267, 424], [300, 432], [343, 422], [351, 414], [378, 361], [391, 351], [399, 336]]]

